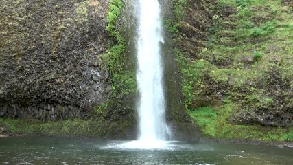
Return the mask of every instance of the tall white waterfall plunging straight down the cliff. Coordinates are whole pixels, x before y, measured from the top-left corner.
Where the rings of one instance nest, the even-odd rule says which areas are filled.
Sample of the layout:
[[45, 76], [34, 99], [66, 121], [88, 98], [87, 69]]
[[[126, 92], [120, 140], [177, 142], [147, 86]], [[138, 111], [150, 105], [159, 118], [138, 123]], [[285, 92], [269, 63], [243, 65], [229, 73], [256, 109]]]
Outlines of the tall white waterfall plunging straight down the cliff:
[[138, 36], [138, 140], [167, 140], [170, 133], [165, 122], [163, 63], [160, 50], [164, 41], [158, 0], [139, 0]]

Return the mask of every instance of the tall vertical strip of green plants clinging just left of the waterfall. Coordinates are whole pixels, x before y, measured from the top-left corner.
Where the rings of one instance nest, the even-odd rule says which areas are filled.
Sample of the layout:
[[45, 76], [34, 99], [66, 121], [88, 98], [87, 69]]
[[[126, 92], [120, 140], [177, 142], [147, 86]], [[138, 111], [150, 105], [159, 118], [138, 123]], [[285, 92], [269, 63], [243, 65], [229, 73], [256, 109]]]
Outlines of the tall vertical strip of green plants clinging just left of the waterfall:
[[124, 69], [124, 63], [121, 59], [121, 54], [124, 53], [124, 50], [126, 48], [125, 39], [115, 28], [117, 19], [121, 14], [122, 7], [123, 3], [121, 0], [110, 1], [110, 11], [108, 12], [106, 30], [110, 33], [110, 36], [115, 37], [117, 43], [109, 47], [108, 52], [100, 57], [100, 62], [106, 65], [106, 67], [113, 76], [113, 96], [117, 96], [117, 94], [133, 94], [136, 89], [134, 72]]

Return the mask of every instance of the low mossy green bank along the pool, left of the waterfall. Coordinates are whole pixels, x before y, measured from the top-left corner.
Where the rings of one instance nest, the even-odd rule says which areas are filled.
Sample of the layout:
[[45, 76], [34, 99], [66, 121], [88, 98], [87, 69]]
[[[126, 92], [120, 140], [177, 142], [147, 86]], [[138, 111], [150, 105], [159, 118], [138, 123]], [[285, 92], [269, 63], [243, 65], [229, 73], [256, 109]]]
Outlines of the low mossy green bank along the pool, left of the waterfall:
[[[118, 137], [127, 127], [132, 126], [129, 121], [100, 120], [65, 120], [57, 122], [32, 122], [25, 120], [1, 119], [0, 126], [5, 128], [4, 134], [22, 133], [32, 135], [57, 135], [79, 137]], [[1, 131], [1, 130], [0, 130]], [[0, 135], [2, 132], [0, 132]], [[123, 137], [123, 135], [121, 135]]]

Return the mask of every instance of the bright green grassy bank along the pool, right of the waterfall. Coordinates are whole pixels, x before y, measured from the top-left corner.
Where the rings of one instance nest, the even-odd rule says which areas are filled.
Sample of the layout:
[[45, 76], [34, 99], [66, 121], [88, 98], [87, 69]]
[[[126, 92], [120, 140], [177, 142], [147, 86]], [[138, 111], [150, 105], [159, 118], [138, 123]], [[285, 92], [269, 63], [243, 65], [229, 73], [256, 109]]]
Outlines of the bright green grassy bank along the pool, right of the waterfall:
[[226, 102], [221, 107], [201, 107], [188, 111], [206, 137], [222, 139], [242, 139], [260, 141], [293, 142], [293, 130], [281, 127], [266, 127], [259, 125], [237, 125], [227, 122], [233, 111], [233, 104]]

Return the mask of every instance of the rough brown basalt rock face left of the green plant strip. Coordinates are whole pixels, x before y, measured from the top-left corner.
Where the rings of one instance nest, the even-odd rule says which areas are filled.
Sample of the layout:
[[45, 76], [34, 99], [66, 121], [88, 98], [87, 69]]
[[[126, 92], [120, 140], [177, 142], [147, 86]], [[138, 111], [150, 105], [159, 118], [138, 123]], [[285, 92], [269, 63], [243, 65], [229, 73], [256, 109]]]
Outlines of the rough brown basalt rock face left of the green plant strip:
[[1, 1], [0, 117], [87, 118], [106, 100], [108, 1]]

